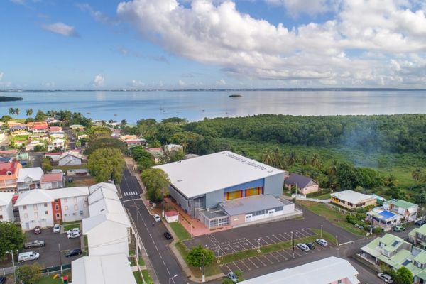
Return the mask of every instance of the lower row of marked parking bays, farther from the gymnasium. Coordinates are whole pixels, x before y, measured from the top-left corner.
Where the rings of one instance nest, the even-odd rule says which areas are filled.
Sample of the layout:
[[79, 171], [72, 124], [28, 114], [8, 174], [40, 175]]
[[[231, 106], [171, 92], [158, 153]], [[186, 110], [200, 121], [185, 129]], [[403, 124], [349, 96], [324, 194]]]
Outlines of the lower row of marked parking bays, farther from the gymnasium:
[[[295, 241], [297, 244], [297, 240]], [[319, 253], [322, 251], [330, 251], [333, 249], [333, 246], [320, 246], [315, 244], [315, 249], [310, 251], [302, 251], [295, 246], [295, 258], [301, 258], [303, 256], [309, 256], [313, 253]], [[258, 268], [265, 268], [266, 266], [271, 266], [273, 264], [282, 263], [285, 261], [293, 261], [293, 249], [282, 249], [280, 251], [273, 251], [271, 253], [259, 254], [258, 256], [252, 256], [250, 258], [245, 258], [241, 261], [233, 261], [231, 263], [225, 263], [220, 265], [221, 270], [224, 274], [229, 273], [229, 271], [241, 271], [243, 273], [256, 270]]]

